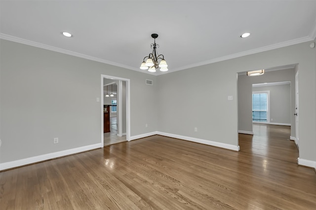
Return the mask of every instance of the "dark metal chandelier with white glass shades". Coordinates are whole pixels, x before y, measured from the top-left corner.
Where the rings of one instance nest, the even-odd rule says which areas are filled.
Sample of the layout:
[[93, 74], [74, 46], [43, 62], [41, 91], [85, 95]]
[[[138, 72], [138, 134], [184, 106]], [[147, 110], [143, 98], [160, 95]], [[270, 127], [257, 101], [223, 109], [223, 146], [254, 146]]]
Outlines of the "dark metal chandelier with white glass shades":
[[[140, 66], [140, 69], [144, 69], [150, 71], [150, 72], [156, 72], [156, 69], [160, 67], [160, 71], [168, 71], [167, 68], [167, 62], [164, 60], [163, 55], [158, 55], [157, 48], [159, 47], [158, 44], [156, 44], [156, 38], [158, 37], [157, 33], [153, 33], [152, 37], [154, 38], [154, 44], [151, 44], [151, 48], [153, 48], [153, 52], [149, 54], [149, 56], [146, 56]], [[158, 56], [157, 56], [158, 55]], [[145, 59], [147, 59], [145, 61]], [[160, 60], [160, 62], [158, 62]]]

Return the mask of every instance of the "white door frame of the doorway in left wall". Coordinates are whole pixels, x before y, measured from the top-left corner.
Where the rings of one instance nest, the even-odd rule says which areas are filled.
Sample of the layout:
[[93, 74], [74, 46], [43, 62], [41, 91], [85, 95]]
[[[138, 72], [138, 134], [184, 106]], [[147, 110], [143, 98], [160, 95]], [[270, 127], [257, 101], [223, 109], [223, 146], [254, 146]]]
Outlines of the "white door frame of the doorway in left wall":
[[[122, 77], [115, 77], [110, 75], [101, 74], [101, 145], [102, 148], [104, 147], [104, 133], [103, 133], [103, 126], [104, 126], [104, 115], [103, 115], [103, 105], [104, 105], [104, 90], [103, 90], [103, 79], [112, 79], [112, 80], [118, 80], [121, 84], [121, 81], [126, 82], [126, 141], [130, 141], [130, 79], [122, 78]], [[118, 91], [121, 92], [121, 85], [118, 86]], [[121, 94], [119, 94], [120, 96]], [[120, 96], [121, 98], [121, 96]], [[121, 113], [122, 113], [122, 103], [119, 101], [118, 103], [118, 111], [119, 111], [119, 118], [120, 120], [120, 126], [121, 129]]]

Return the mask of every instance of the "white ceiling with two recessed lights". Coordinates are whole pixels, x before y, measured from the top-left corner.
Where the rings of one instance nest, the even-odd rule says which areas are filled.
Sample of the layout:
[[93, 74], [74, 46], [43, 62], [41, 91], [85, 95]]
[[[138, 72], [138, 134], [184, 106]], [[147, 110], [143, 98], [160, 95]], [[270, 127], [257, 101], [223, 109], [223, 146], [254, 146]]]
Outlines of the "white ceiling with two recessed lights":
[[1, 0], [0, 33], [142, 72], [158, 33], [173, 72], [314, 40], [316, 0]]

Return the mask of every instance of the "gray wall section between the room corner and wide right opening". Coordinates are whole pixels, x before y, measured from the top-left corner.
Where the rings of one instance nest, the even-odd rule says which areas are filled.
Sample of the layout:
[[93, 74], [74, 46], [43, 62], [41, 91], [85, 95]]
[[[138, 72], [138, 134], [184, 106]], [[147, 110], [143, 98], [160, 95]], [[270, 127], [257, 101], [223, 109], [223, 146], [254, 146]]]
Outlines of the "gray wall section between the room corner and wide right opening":
[[222, 63], [158, 76], [159, 131], [238, 145], [237, 76]]

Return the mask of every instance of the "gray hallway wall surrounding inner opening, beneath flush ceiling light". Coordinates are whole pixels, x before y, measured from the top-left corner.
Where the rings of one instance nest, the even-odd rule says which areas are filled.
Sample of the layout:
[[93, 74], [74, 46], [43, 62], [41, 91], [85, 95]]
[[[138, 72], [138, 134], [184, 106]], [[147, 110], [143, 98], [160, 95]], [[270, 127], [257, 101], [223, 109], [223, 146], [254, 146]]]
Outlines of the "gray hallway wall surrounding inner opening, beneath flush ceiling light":
[[252, 132], [252, 84], [291, 82], [290, 123], [291, 136], [295, 137], [295, 70], [283, 69], [268, 71], [264, 75], [248, 77], [238, 76], [238, 130]]

